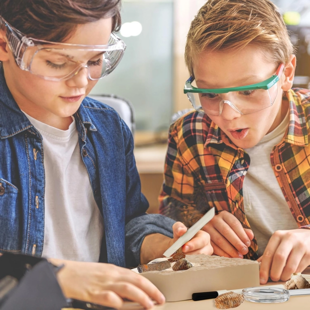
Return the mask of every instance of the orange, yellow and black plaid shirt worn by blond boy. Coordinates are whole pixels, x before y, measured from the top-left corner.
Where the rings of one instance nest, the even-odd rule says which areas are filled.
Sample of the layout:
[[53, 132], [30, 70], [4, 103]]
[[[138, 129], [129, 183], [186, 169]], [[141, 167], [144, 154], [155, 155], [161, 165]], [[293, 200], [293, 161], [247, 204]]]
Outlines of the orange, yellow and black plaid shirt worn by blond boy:
[[[295, 88], [285, 95], [290, 123], [270, 160], [299, 228], [310, 228], [310, 90]], [[190, 227], [215, 207], [215, 214], [229, 211], [250, 228], [242, 196], [249, 162], [206, 114], [185, 114], [170, 126], [159, 212]], [[244, 257], [258, 258], [255, 237]]]

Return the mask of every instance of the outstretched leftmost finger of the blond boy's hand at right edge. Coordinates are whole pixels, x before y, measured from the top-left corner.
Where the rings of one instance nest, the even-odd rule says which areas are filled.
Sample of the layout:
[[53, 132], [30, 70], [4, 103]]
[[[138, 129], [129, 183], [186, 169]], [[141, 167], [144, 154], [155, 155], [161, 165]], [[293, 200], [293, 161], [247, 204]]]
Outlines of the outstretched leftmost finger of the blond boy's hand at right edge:
[[263, 258], [259, 268], [259, 281], [260, 284], [266, 284], [269, 277], [273, 255], [280, 244], [280, 238], [272, 235], [263, 253]]

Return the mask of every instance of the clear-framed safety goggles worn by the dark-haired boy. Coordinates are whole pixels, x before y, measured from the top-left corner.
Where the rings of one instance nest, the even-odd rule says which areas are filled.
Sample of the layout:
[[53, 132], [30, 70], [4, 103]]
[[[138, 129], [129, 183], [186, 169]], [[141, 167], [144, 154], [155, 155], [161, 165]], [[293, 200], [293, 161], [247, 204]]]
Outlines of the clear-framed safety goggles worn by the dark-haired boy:
[[111, 34], [107, 45], [80, 45], [27, 38], [0, 16], [0, 31], [22, 70], [45, 80], [72, 78], [84, 68], [90, 80], [111, 73], [119, 64], [126, 44]]

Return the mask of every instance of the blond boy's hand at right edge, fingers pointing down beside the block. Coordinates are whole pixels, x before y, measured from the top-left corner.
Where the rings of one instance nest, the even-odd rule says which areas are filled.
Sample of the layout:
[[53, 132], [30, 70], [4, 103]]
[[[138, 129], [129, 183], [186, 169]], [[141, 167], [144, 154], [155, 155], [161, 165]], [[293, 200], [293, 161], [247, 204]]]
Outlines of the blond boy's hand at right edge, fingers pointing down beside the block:
[[268, 277], [286, 281], [293, 272], [303, 272], [310, 265], [310, 230], [277, 230], [259, 260], [260, 284], [265, 284]]

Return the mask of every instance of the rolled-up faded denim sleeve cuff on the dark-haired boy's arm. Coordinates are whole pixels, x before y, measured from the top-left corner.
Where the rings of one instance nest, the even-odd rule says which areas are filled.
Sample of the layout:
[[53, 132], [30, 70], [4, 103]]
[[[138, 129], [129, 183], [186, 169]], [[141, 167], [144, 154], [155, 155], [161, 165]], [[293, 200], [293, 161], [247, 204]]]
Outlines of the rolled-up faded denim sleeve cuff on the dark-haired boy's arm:
[[172, 238], [174, 223], [175, 220], [161, 214], [145, 214], [131, 219], [125, 226], [126, 267], [140, 264], [140, 250], [145, 236], [158, 232]]

